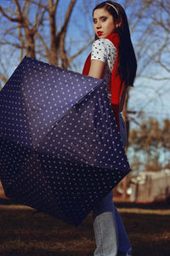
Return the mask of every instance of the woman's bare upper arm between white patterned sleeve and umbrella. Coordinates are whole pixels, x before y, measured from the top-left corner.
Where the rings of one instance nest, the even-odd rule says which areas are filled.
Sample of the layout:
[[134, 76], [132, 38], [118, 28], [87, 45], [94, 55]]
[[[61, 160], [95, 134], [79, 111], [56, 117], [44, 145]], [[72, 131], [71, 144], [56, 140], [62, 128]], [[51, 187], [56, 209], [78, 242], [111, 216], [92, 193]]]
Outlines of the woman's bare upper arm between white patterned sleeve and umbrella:
[[105, 70], [105, 62], [99, 60], [92, 60], [88, 76], [95, 79], [103, 79]]

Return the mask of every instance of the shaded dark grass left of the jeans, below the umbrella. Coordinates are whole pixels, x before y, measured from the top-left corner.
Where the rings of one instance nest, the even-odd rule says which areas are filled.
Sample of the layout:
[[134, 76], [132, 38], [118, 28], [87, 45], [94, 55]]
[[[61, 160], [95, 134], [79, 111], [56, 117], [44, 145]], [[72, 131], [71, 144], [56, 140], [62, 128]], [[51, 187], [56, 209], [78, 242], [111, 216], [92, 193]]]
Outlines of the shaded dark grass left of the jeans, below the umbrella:
[[93, 255], [92, 216], [78, 227], [34, 210], [0, 210], [0, 255]]

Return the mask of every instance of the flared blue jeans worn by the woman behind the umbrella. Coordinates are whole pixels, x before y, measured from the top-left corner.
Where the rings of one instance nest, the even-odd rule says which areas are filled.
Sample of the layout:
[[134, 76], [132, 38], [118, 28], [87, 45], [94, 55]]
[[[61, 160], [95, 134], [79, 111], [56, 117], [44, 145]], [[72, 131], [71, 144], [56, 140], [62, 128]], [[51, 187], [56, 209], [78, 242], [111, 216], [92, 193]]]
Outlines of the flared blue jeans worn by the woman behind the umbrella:
[[[122, 143], [126, 146], [126, 128], [120, 114]], [[94, 208], [94, 235], [96, 249], [94, 256], [131, 255], [131, 244], [122, 218], [113, 203], [112, 191]]]

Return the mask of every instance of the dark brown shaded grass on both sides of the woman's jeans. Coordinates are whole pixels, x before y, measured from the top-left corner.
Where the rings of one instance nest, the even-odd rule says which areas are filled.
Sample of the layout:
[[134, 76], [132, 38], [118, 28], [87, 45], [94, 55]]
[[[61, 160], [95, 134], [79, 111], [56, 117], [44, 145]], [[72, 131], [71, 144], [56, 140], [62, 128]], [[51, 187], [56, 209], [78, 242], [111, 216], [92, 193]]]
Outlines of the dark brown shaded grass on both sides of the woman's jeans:
[[[170, 255], [170, 210], [119, 207], [133, 256]], [[34, 212], [29, 207], [0, 206], [1, 256], [93, 256], [92, 214], [80, 226]]]

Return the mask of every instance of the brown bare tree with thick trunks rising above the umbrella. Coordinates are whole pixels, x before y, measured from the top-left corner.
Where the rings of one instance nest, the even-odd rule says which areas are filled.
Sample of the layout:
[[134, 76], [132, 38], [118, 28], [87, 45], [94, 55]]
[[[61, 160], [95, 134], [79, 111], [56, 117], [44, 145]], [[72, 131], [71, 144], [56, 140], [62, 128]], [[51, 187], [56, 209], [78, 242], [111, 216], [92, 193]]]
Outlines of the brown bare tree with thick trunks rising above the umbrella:
[[[71, 19], [72, 10], [77, 0], [71, 0], [66, 10], [64, 23], [59, 31], [55, 19], [59, 0], [48, 0], [48, 5], [43, 4], [41, 0], [25, 0], [23, 3], [19, 0], [13, 0], [12, 2], [14, 2], [14, 11], [12, 13], [10, 7], [8, 9], [0, 7], [0, 11], [8, 21], [16, 23], [20, 42], [20, 45], [18, 45], [20, 48], [20, 58], [23, 58], [24, 54], [31, 58], [36, 57], [36, 39], [38, 38], [45, 49], [45, 55], [49, 63], [58, 65], [60, 57], [62, 67], [67, 67], [68, 60], [65, 51], [65, 35], [69, 20]], [[34, 8], [35, 13], [34, 19], [31, 20], [30, 12], [32, 8]], [[45, 19], [48, 19], [49, 22], [49, 45], [41, 33], [41, 27]], [[8, 44], [8, 42], [6, 42], [6, 44]]]

